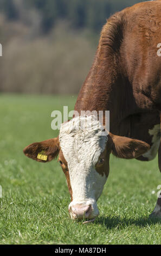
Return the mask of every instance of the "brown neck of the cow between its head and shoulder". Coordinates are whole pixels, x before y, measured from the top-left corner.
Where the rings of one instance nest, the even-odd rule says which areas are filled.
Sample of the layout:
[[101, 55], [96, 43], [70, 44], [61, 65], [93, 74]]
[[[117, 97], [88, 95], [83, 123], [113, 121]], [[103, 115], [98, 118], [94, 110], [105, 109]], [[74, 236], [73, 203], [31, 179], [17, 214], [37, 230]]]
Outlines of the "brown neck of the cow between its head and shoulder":
[[[146, 81], [147, 77], [144, 79], [142, 73], [141, 78], [135, 76], [136, 65], [127, 65], [126, 52], [128, 59], [133, 56], [129, 56], [128, 44], [123, 40], [124, 29], [124, 22], [117, 16], [102, 29], [98, 50], [78, 95], [75, 111], [79, 114], [82, 110], [110, 111], [112, 133], [147, 141], [144, 137], [149, 136], [151, 126], [160, 123], [159, 115], [151, 98], [138, 89], [140, 79]], [[145, 124], [140, 120], [146, 120]], [[140, 126], [136, 126], [138, 122]], [[140, 136], [140, 129], [146, 136]]]

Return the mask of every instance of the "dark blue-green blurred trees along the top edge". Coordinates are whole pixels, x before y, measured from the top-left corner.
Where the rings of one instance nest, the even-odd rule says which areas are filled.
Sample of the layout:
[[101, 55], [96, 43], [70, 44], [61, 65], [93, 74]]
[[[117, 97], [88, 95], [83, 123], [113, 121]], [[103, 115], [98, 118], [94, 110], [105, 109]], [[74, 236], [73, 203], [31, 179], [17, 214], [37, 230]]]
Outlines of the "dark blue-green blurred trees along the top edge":
[[[18, 19], [17, 0], [0, 0], [1, 9], [8, 19]], [[118, 10], [139, 0], [25, 0], [25, 8], [41, 13], [43, 32], [48, 32], [59, 19], [67, 19], [73, 28], [100, 31], [106, 19]]]

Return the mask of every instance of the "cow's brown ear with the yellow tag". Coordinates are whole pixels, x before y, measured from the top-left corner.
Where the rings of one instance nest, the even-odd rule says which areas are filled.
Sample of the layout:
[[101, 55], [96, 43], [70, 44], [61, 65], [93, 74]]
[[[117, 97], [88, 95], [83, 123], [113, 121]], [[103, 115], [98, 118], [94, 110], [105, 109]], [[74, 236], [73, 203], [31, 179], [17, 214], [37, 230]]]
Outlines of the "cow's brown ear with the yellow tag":
[[59, 154], [59, 138], [35, 142], [23, 150], [24, 154], [37, 162], [50, 162]]

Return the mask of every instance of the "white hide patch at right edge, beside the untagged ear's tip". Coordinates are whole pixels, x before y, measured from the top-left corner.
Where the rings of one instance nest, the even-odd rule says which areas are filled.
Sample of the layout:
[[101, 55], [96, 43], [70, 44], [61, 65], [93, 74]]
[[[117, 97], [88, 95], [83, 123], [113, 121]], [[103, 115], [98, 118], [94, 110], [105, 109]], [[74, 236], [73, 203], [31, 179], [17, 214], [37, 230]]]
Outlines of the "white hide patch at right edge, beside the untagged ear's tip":
[[153, 160], [158, 152], [160, 145], [160, 124], [154, 125], [152, 130], [149, 130], [149, 134], [152, 137], [152, 146], [149, 151], [147, 151], [143, 156], [149, 160]]

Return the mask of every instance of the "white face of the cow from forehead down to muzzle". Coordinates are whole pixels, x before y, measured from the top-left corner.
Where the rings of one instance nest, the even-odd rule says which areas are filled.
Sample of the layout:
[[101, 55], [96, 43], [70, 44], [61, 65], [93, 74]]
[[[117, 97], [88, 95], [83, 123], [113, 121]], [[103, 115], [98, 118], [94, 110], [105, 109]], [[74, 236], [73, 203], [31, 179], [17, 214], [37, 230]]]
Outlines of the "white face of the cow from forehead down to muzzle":
[[[107, 180], [105, 172], [98, 172], [97, 164], [107, 144], [107, 136], [102, 136], [103, 127], [94, 117], [77, 117], [62, 124], [59, 141], [63, 156], [68, 164], [72, 202], [69, 204], [71, 218], [99, 215], [96, 200], [100, 197]], [[100, 163], [99, 163], [100, 162]], [[108, 167], [107, 167], [108, 168]]]

